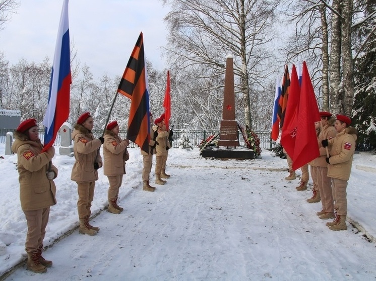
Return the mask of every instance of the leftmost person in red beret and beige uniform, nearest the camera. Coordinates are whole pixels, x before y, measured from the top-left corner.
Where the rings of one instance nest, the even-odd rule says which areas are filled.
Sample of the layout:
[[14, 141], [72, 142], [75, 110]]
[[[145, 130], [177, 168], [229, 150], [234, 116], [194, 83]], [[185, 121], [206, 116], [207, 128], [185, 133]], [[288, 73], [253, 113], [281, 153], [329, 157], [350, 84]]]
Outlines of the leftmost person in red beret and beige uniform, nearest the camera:
[[[27, 222], [25, 250], [26, 268], [36, 273], [46, 272], [52, 261], [42, 256], [50, 207], [56, 204], [53, 179], [57, 168], [49, 164], [55, 154], [53, 146], [42, 152], [39, 129], [35, 119], [22, 122], [14, 132], [12, 151], [17, 154], [20, 201]], [[49, 168], [50, 166], [50, 168]]]

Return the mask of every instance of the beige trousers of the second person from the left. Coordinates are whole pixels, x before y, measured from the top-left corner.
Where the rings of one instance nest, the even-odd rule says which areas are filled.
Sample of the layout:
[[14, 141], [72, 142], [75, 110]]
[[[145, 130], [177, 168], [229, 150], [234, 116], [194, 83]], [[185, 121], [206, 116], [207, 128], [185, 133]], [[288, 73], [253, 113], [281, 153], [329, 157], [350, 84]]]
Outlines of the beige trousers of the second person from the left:
[[78, 185], [78, 217], [83, 219], [91, 215], [91, 203], [94, 199], [95, 181], [77, 182]]

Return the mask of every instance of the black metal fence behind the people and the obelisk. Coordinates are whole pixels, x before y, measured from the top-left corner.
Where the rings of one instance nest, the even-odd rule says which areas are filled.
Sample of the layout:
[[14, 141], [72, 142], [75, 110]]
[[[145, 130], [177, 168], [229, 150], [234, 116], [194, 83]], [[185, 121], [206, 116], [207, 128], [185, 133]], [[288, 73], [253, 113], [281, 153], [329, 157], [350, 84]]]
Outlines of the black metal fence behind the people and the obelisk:
[[[0, 129], [0, 143], [5, 143], [7, 133], [13, 132], [13, 131], [14, 131], [13, 129]], [[93, 130], [93, 134], [96, 137], [100, 137], [102, 132], [103, 132], [102, 130]], [[220, 131], [219, 130], [175, 130], [174, 129], [173, 130], [174, 140], [173, 140], [173, 144], [172, 144], [173, 147], [178, 147], [178, 139], [180, 138], [182, 133], [185, 133], [185, 134], [187, 134], [187, 136], [189, 136], [191, 145], [193, 147], [198, 147], [202, 140], [205, 140], [206, 138], [208, 138], [211, 135], [219, 134]], [[270, 139], [270, 132], [267, 132], [267, 131], [257, 132], [256, 131], [255, 133], [258, 135], [258, 137], [260, 139], [260, 146], [261, 146], [262, 149], [272, 147], [272, 142], [271, 142], [271, 139]], [[44, 130], [41, 129], [39, 131], [39, 134], [40, 134], [39, 137], [40, 137], [41, 141], [43, 142], [43, 140], [44, 140]], [[125, 139], [127, 137], [127, 131], [126, 130], [120, 131], [119, 136], [120, 136], [120, 138]], [[241, 136], [241, 134], [239, 134], [238, 139], [239, 139], [240, 145], [244, 145], [244, 140], [243, 140], [243, 137]], [[55, 146], [60, 145], [60, 132], [57, 133], [54, 145]], [[136, 146], [137, 145], [134, 144], [134, 143], [130, 144], [130, 147], [136, 147]]]

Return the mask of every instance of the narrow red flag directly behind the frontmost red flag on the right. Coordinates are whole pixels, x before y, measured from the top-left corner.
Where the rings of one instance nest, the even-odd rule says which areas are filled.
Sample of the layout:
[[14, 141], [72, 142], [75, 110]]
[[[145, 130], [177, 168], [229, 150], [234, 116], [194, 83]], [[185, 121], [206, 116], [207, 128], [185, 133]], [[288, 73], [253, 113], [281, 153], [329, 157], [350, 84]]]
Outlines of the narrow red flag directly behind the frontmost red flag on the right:
[[281, 135], [281, 145], [286, 150], [286, 153], [291, 157], [291, 159], [293, 158], [295, 148], [299, 99], [299, 78], [296, 73], [295, 65], [293, 64], [288, 100], [286, 105], [285, 120]]

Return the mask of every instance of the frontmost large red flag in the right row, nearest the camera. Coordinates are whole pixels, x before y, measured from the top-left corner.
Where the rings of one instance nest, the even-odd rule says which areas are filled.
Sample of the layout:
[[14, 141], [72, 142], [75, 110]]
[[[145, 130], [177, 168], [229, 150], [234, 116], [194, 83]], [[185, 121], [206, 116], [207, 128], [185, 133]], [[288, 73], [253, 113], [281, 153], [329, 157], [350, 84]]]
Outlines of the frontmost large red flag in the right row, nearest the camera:
[[315, 129], [316, 121], [320, 121], [319, 108], [304, 61], [297, 118], [298, 130], [296, 132], [294, 156], [292, 157], [292, 168], [294, 170], [320, 156]]

